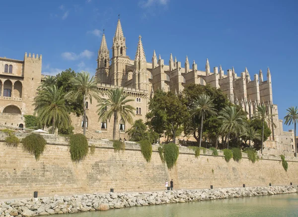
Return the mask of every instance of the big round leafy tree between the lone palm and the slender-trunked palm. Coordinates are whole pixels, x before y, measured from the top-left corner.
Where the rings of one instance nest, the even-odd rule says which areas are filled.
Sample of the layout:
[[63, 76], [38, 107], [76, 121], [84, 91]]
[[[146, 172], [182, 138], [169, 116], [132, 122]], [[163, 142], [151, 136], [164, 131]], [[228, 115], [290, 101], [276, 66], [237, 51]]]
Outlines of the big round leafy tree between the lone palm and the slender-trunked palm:
[[148, 125], [158, 134], [165, 134], [176, 143], [176, 136], [180, 132], [184, 118], [189, 115], [187, 107], [181, 101], [182, 97], [172, 92], [157, 90], [149, 101], [146, 117]]

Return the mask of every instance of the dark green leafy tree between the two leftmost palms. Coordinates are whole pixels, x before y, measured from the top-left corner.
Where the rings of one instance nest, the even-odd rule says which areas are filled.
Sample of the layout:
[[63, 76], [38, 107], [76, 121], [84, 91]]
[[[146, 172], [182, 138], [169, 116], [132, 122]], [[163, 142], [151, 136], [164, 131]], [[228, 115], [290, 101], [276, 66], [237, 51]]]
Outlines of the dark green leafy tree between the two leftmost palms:
[[[76, 77], [76, 73], [72, 69], [65, 70], [59, 74], [57, 74], [57, 87], [62, 88], [64, 93], [68, 93], [70, 91], [75, 91], [76, 87], [72, 82], [73, 79]], [[67, 98], [66, 104], [70, 108], [71, 112], [74, 113], [77, 117], [83, 115], [83, 97], [78, 96], [76, 100]]]

